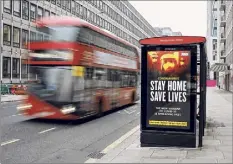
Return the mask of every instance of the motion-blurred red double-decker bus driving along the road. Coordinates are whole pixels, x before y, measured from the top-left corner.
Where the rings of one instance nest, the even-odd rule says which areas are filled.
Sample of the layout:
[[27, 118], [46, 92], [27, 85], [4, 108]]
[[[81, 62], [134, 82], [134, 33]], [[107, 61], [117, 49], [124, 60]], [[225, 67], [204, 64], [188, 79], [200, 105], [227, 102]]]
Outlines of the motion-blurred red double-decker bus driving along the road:
[[75, 120], [139, 99], [136, 46], [79, 18], [48, 17], [36, 25], [47, 37], [28, 43], [37, 80], [18, 106], [21, 113]]

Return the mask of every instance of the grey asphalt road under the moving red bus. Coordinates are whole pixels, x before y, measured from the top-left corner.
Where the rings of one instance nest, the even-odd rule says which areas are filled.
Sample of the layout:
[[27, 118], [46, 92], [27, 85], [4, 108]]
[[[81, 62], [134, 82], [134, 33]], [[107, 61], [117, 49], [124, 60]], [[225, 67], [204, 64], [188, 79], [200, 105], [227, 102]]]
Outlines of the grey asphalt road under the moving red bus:
[[1, 104], [2, 164], [84, 163], [140, 123], [139, 103], [76, 123], [27, 118], [16, 105]]

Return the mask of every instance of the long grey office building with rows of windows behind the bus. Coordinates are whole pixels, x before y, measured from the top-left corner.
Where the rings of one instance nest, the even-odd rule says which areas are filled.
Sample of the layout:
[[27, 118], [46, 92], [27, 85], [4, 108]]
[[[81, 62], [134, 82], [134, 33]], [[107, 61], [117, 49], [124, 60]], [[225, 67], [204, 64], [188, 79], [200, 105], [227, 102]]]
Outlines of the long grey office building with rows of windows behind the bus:
[[139, 46], [139, 39], [158, 36], [154, 28], [128, 1], [103, 0], [3, 0], [0, 1], [1, 82], [24, 83], [30, 78], [23, 65], [31, 39], [47, 36], [34, 20], [50, 15], [79, 17]]

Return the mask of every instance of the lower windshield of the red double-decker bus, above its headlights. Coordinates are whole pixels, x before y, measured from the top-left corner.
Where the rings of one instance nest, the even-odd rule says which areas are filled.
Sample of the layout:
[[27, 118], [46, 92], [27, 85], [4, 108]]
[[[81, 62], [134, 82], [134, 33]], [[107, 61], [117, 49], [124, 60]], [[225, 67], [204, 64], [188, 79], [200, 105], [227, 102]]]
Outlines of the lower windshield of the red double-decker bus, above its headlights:
[[51, 101], [70, 101], [72, 79], [70, 67], [31, 66], [30, 73], [37, 75], [37, 82], [29, 85], [29, 92]]

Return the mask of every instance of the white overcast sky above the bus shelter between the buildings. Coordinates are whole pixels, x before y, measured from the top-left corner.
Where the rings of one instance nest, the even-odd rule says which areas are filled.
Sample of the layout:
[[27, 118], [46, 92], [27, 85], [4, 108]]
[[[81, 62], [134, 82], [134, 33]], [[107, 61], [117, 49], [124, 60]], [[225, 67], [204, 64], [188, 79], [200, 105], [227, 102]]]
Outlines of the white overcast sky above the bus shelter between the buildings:
[[206, 36], [206, 1], [130, 1], [153, 27], [171, 27], [183, 35]]

